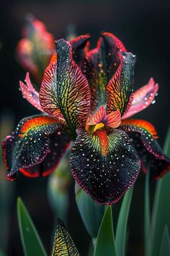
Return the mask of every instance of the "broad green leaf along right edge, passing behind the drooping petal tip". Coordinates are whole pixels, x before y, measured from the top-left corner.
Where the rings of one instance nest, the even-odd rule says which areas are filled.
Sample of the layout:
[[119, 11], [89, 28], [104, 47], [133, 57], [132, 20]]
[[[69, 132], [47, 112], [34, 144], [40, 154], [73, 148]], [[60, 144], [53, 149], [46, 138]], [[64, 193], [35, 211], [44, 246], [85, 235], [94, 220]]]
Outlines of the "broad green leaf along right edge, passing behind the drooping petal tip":
[[[170, 157], [170, 127], [164, 144], [164, 153]], [[161, 248], [161, 239], [164, 227], [170, 230], [170, 172], [156, 184], [156, 193], [153, 202], [153, 216], [151, 223], [151, 239], [149, 241], [149, 256], [158, 256]]]

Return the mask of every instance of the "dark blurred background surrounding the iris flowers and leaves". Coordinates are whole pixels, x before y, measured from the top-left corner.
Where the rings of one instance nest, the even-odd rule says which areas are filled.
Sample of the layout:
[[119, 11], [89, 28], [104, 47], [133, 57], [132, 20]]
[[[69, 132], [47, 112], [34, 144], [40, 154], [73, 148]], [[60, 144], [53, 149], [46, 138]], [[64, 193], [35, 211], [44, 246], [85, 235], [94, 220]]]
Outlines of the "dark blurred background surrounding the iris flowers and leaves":
[[[115, 0], [6, 0], [0, 3], [0, 77], [1, 77], [1, 137], [14, 129], [24, 116], [37, 114], [19, 91], [19, 80], [24, 80], [24, 70], [16, 59], [16, 46], [22, 38], [24, 17], [32, 13], [45, 23], [55, 38], [66, 38], [69, 33], [91, 34], [91, 47], [95, 47], [101, 31], [117, 35], [128, 51], [137, 55], [135, 88], [153, 77], [159, 84], [156, 104], [136, 117], [146, 119], [156, 127], [161, 146], [169, 127], [169, 26], [170, 2], [115, 1]], [[27, 179], [19, 176], [17, 182], [7, 182], [1, 163], [0, 210], [2, 229], [1, 249], [6, 255], [23, 255], [17, 225], [16, 199], [22, 197], [37, 227], [45, 249], [50, 255], [55, 210], [48, 200], [48, 177]], [[135, 184], [130, 210], [128, 256], [143, 255], [143, 181], [140, 174]], [[151, 184], [154, 189], [154, 182]], [[82, 256], [88, 255], [90, 237], [79, 216], [74, 199], [74, 186], [69, 187], [67, 226]], [[67, 200], [67, 199], [66, 199]], [[114, 218], [120, 203], [115, 205]], [[79, 223], [79, 224], [78, 224]], [[3, 231], [3, 232], [2, 232]]]

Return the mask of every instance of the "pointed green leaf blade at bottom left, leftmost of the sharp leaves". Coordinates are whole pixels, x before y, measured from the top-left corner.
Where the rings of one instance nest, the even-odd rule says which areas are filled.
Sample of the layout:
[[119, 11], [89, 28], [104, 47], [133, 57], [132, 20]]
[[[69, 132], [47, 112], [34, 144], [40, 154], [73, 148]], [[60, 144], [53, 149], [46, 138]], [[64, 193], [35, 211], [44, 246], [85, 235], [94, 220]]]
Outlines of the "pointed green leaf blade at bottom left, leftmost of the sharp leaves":
[[34, 223], [32, 223], [32, 219], [20, 197], [17, 198], [17, 217], [24, 255], [47, 256], [40, 236], [37, 234]]

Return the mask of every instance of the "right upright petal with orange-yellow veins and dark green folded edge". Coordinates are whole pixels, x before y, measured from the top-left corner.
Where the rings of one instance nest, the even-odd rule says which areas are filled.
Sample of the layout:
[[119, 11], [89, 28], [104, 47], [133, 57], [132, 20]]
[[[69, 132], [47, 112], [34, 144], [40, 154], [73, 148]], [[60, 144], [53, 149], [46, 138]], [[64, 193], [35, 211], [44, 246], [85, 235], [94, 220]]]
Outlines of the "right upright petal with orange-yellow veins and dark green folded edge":
[[133, 90], [135, 56], [123, 52], [122, 61], [107, 85], [107, 114], [119, 110], [124, 113]]

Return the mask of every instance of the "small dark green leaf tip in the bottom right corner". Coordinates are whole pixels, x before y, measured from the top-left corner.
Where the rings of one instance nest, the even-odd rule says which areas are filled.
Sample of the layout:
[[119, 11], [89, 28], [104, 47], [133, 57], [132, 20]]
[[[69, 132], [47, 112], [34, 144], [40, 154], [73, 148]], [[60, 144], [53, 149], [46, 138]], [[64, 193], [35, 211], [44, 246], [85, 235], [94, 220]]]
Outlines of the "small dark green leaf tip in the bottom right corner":
[[170, 238], [167, 226], [165, 226], [164, 234], [162, 236], [160, 256], [170, 256]]

